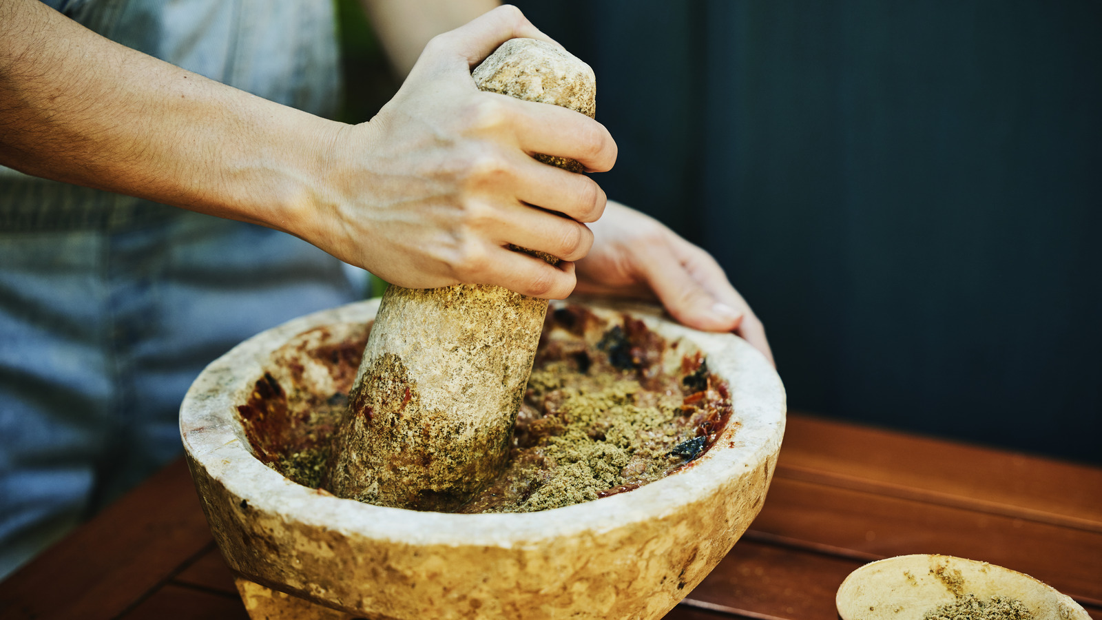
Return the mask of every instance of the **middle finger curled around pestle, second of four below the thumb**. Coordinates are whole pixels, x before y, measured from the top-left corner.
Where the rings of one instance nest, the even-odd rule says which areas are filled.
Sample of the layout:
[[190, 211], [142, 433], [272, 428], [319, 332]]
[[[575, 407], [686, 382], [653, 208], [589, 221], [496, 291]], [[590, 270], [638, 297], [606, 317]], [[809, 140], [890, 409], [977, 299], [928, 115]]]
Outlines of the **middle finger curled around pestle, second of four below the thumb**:
[[548, 165], [529, 157], [516, 162], [516, 196], [523, 202], [562, 213], [577, 222], [596, 222], [608, 196], [584, 174]]

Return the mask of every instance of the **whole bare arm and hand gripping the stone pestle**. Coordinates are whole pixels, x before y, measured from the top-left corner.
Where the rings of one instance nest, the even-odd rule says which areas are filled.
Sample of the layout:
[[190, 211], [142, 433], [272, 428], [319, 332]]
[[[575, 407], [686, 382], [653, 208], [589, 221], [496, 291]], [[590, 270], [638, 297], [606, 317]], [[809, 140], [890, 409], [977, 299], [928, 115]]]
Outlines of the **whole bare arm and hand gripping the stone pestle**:
[[357, 126], [117, 45], [36, 0], [0, 0], [0, 163], [31, 174], [287, 231], [407, 288], [540, 297], [573, 288], [592, 238], [580, 222], [604, 209], [591, 179], [528, 154], [607, 170], [604, 127], [474, 85], [472, 67], [503, 42], [543, 36], [516, 9], [435, 38]]

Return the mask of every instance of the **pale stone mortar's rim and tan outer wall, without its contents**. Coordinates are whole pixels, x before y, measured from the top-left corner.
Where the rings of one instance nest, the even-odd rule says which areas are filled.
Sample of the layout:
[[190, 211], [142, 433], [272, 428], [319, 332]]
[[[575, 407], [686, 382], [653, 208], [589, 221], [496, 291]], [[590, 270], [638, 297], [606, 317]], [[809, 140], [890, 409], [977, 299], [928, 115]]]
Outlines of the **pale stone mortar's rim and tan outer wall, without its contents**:
[[760, 510], [785, 426], [775, 371], [732, 334], [641, 311], [633, 316], [682, 339], [678, 351], [704, 352], [731, 385], [737, 424], [683, 471], [628, 493], [522, 514], [414, 512], [294, 484], [253, 456], [237, 406], [298, 334], [365, 323], [377, 308], [352, 304], [264, 332], [213, 363], [188, 392], [181, 409], [188, 464], [238, 577], [372, 619], [660, 618]]

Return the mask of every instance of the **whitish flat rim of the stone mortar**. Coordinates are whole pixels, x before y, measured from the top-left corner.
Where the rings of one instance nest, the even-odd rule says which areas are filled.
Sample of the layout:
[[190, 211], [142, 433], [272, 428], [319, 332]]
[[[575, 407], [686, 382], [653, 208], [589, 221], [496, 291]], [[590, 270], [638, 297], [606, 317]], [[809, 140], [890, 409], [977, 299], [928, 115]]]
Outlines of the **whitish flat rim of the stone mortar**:
[[[374, 319], [379, 299], [322, 310], [266, 330], [212, 362], [193, 383], [181, 405], [184, 449], [194, 466], [262, 513], [288, 522], [338, 531], [354, 537], [407, 544], [530, 546], [549, 538], [577, 536], [660, 520], [703, 502], [724, 483], [777, 453], [785, 428], [786, 396], [765, 356], [734, 334], [700, 332], [660, 317], [638, 302], [572, 299], [594, 309], [627, 312], [663, 338], [689, 340], [709, 355], [709, 367], [731, 383], [732, 419], [712, 449], [685, 471], [630, 492], [531, 513], [454, 514], [418, 512], [344, 500], [283, 478], [252, 455], [236, 404], [263, 374], [271, 353], [291, 338], [333, 323]], [[734, 381], [737, 377], [739, 381]], [[750, 385], [756, 388], [750, 388]], [[749, 417], [747, 417], [747, 415]], [[746, 424], [752, 421], [754, 424]], [[728, 442], [734, 442], [728, 446]], [[725, 468], [731, 468], [726, 475]], [[771, 477], [767, 471], [767, 477]]]

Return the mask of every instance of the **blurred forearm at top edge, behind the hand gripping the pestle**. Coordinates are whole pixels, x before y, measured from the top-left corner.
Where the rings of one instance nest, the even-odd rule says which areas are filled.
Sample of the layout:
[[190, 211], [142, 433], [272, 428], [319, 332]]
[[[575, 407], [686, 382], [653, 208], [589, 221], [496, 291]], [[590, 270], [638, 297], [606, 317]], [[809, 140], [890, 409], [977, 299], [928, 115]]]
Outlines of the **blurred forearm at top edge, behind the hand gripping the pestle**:
[[406, 77], [425, 43], [494, 9], [498, 0], [360, 0], [390, 64]]

